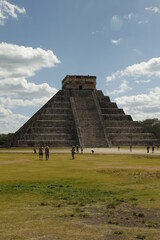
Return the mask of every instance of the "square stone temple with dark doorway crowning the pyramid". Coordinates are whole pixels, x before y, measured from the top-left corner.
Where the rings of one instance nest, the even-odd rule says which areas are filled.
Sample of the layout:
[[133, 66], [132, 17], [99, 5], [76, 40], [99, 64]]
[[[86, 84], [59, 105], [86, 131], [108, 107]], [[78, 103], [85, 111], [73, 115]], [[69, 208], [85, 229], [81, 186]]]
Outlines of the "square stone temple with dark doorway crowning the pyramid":
[[96, 76], [67, 75], [62, 81], [62, 89], [96, 89]]

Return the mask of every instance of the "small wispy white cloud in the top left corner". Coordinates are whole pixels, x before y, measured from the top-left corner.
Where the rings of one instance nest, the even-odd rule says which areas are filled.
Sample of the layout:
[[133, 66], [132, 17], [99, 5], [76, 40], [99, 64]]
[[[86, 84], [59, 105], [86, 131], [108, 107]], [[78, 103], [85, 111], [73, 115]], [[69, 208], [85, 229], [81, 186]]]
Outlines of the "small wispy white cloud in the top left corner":
[[0, 0], [0, 26], [3, 26], [8, 17], [18, 19], [18, 14], [24, 14], [25, 8], [9, 3], [7, 0]]

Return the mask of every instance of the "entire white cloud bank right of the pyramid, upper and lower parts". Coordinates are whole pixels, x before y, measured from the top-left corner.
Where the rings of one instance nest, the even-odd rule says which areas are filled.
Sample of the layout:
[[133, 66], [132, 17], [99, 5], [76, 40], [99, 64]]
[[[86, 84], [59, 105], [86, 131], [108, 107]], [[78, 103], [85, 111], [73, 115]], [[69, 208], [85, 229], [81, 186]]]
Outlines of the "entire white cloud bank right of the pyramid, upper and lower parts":
[[[132, 115], [134, 120], [144, 120], [146, 118], [160, 118], [160, 87], [152, 87], [153, 83], [160, 77], [160, 58], [152, 58], [139, 64], [126, 67], [123, 70], [113, 72], [106, 77], [107, 86], [116, 83], [119, 88], [110, 94], [117, 95], [114, 99], [119, 107], [124, 108], [125, 112]], [[126, 80], [127, 79], [127, 80]], [[150, 84], [149, 92], [132, 94], [130, 87], [132, 83], [138, 84], [141, 91], [146, 92], [146, 84]], [[145, 89], [144, 89], [145, 87]], [[130, 90], [131, 96], [128, 96]], [[119, 95], [119, 96], [118, 96]], [[120, 96], [122, 95], [122, 96]]]

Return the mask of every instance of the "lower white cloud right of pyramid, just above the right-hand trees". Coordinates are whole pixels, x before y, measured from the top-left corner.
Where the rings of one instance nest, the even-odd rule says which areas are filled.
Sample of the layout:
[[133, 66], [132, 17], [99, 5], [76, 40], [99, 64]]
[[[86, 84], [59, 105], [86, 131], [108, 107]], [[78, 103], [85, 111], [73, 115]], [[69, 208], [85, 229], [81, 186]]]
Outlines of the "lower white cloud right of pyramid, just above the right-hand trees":
[[115, 98], [114, 101], [125, 110], [125, 113], [130, 114], [134, 120], [160, 119], [160, 87], [151, 90], [149, 94], [123, 96]]

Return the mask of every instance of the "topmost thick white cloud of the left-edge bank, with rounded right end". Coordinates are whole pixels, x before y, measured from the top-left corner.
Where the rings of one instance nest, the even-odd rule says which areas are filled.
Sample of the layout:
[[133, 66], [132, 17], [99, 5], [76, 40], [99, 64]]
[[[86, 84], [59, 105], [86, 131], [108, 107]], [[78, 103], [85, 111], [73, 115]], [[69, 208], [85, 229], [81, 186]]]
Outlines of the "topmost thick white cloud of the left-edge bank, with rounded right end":
[[36, 71], [60, 63], [51, 50], [0, 44], [0, 79], [31, 77]]

